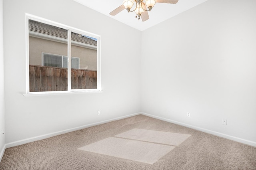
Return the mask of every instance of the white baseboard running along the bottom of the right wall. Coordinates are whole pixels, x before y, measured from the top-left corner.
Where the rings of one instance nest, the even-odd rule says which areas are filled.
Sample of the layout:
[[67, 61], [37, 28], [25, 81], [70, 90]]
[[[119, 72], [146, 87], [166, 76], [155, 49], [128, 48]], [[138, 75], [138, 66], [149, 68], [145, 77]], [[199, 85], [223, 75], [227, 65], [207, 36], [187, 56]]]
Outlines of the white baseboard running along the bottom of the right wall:
[[181, 125], [181, 126], [184, 126], [184, 127], [196, 129], [196, 130], [199, 130], [199, 131], [202, 131], [202, 132], [206, 132], [206, 133], [209, 133], [209, 134], [220, 136], [222, 138], [227, 138], [227, 139], [230, 139], [230, 140], [234, 140], [236, 142], [240, 142], [240, 143], [244, 143], [244, 144], [248, 144], [248, 145], [256, 147], [256, 142], [253, 142], [251, 140], [246, 140], [246, 139], [238, 138], [238, 137], [235, 137], [235, 136], [230, 136], [228, 134], [223, 134], [223, 133], [215, 132], [215, 131], [208, 130], [208, 129], [205, 129], [205, 128], [200, 128], [200, 127], [188, 125], [186, 123], [181, 123], [181, 122], [178, 122], [178, 121], [173, 121], [173, 120], [170, 120], [170, 119], [166, 119], [166, 118], [163, 118], [163, 117], [158, 117], [158, 116], [155, 116], [155, 115], [150, 115], [150, 114], [147, 114], [147, 113], [141, 113], [141, 114], [145, 115], [145, 116], [148, 116], [148, 117], [155, 118], [155, 119], [159, 119], [161, 121], [166, 121], [166, 122], [174, 123], [174, 124]]

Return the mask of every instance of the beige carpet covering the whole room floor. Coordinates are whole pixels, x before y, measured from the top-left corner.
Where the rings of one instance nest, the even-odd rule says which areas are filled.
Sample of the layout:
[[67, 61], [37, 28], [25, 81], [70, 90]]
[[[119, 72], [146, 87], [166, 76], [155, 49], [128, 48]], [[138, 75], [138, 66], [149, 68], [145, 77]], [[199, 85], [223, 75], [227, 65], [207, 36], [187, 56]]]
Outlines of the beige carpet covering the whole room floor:
[[256, 148], [138, 115], [8, 148], [0, 163], [0, 170], [198, 169], [256, 170]]

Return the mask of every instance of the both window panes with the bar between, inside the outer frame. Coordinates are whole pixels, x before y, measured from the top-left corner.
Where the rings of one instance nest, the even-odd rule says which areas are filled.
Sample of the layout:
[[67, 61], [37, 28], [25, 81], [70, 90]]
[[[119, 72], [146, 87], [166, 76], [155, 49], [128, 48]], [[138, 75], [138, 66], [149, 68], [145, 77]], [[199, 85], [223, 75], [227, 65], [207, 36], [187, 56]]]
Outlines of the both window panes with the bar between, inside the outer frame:
[[29, 92], [98, 89], [99, 37], [31, 19], [28, 32]]

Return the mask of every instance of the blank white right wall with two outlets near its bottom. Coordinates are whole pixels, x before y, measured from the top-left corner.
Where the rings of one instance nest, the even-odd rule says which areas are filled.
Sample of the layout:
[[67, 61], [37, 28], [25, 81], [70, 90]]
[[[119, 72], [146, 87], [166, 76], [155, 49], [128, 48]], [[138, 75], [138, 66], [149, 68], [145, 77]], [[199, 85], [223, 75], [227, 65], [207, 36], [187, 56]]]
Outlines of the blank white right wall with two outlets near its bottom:
[[255, 0], [208, 0], [145, 30], [142, 112], [256, 144], [255, 16]]

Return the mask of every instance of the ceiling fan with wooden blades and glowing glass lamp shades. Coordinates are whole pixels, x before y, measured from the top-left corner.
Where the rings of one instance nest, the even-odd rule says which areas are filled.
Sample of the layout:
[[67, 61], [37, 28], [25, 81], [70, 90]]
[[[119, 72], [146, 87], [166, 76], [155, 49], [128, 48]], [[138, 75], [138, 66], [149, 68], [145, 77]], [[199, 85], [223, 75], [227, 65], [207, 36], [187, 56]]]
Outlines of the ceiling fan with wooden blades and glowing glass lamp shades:
[[[124, 0], [123, 4], [119, 7], [117, 7], [115, 10], [110, 12], [109, 14], [112, 16], [115, 16], [122, 10], [126, 9], [128, 12], [134, 12], [136, 13], [136, 18], [138, 20], [142, 19], [142, 21], [146, 21], [149, 19], [148, 11], [151, 11], [154, 5], [158, 3], [166, 3], [166, 4], [176, 4], [178, 0]], [[135, 3], [135, 7], [133, 7]]]

